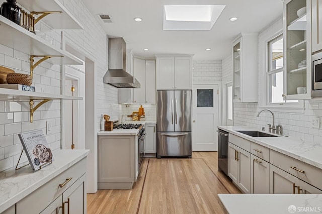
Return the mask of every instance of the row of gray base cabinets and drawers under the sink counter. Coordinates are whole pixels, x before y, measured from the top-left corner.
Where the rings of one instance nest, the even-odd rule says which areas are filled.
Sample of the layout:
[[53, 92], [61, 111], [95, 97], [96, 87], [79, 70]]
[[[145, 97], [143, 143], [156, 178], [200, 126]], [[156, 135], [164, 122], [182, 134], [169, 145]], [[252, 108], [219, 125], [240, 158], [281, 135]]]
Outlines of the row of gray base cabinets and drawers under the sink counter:
[[321, 169], [230, 133], [228, 176], [244, 193], [322, 194]]

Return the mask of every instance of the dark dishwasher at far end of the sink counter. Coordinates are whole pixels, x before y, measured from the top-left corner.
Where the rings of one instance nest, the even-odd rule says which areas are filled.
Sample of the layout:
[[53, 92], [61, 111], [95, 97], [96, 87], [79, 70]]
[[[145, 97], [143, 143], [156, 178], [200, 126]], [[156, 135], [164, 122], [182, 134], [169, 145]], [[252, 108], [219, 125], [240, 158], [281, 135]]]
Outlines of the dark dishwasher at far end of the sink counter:
[[218, 171], [228, 176], [228, 132], [221, 129], [218, 132]]

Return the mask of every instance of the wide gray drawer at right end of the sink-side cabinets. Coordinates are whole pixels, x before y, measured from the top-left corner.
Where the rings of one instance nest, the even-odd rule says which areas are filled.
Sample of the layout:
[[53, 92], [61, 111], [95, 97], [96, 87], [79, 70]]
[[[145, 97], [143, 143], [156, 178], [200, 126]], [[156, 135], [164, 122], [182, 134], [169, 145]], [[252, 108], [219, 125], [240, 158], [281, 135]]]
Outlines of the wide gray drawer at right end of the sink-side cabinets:
[[[322, 189], [322, 169], [316, 168], [310, 164], [296, 160], [274, 150], [271, 150], [270, 152], [270, 162], [271, 164], [279, 167], [280, 169], [283, 169], [284, 171], [294, 175], [295, 177], [298, 177], [299, 179], [319, 189]], [[293, 169], [291, 167], [294, 167], [302, 172], [297, 171], [296, 169]]]

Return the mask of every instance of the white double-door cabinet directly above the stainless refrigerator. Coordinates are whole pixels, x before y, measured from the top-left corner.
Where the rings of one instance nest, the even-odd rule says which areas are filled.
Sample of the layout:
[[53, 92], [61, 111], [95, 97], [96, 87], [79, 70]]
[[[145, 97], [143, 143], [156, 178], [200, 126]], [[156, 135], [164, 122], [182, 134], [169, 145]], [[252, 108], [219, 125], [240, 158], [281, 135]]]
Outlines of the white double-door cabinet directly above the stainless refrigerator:
[[192, 89], [192, 57], [157, 56], [156, 58], [157, 90]]

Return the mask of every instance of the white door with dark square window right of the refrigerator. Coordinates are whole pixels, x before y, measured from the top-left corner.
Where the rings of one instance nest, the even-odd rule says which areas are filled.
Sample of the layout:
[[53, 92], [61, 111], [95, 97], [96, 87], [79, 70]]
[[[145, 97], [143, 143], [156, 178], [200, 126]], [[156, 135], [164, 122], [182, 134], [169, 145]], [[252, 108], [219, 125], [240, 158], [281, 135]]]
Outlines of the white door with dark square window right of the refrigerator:
[[193, 85], [192, 151], [218, 151], [218, 85]]

